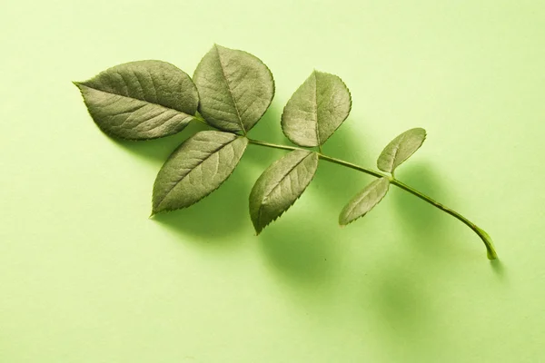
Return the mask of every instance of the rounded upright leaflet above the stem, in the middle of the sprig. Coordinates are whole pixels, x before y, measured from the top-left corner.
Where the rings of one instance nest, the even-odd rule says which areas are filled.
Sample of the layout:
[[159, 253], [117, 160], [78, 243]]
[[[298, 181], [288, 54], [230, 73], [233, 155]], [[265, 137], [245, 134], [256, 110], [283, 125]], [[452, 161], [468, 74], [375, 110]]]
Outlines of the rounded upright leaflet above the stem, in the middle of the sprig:
[[341, 78], [314, 71], [284, 107], [282, 131], [298, 145], [322, 145], [346, 120], [351, 107], [350, 91]]

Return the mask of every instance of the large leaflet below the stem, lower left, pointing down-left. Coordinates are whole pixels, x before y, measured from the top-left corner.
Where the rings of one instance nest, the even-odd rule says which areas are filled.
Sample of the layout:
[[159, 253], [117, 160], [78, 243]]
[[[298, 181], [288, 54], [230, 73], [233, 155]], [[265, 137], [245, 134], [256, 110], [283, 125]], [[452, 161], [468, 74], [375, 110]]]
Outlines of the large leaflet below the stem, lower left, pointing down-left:
[[187, 139], [157, 174], [153, 214], [189, 207], [218, 189], [247, 145], [248, 139], [229, 132], [203, 131]]

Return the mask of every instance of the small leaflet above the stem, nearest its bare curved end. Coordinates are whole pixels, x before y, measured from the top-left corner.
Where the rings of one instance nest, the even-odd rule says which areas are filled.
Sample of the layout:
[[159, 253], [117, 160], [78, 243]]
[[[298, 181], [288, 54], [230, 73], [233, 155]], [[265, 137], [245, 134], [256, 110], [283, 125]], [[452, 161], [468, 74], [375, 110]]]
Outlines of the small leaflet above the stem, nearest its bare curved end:
[[393, 172], [416, 152], [426, 140], [426, 130], [417, 127], [401, 133], [381, 152], [377, 166], [382, 172]]

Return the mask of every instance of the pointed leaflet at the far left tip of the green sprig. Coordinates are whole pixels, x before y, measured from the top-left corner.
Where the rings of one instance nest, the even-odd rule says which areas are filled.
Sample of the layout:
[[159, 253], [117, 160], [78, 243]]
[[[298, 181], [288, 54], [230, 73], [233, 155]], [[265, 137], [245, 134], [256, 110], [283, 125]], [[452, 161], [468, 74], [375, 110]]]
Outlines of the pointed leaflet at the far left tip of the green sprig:
[[149, 140], [180, 132], [199, 103], [189, 75], [160, 61], [119, 64], [74, 84], [94, 123], [121, 139]]

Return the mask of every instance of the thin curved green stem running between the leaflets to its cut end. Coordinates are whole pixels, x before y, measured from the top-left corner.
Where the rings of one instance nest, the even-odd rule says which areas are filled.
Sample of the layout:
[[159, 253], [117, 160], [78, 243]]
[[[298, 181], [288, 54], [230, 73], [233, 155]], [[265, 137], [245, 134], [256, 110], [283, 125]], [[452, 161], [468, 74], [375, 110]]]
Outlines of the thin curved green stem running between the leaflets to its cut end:
[[[250, 143], [253, 143], [254, 145], [265, 146], [265, 147], [269, 147], [269, 148], [273, 148], [273, 149], [281, 149], [281, 150], [289, 150], [289, 151], [305, 150], [305, 149], [302, 149], [302, 148], [299, 148], [299, 147], [294, 147], [294, 146], [279, 145], [279, 144], [271, 143], [271, 142], [261, 142], [261, 141], [253, 140], [253, 139], [248, 139], [248, 140], [249, 140]], [[318, 152], [318, 156], [320, 157], [320, 159], [325, 160], [326, 162], [332, 162], [332, 163], [335, 163], [335, 164], [338, 164], [338, 165], [342, 165], [342, 166], [351, 168], [351, 169], [359, 171], [359, 172], [365, 172], [366, 174], [372, 175], [372, 176], [374, 176], [376, 178], [388, 178], [390, 180], [391, 184], [401, 188], [403, 191], [410, 192], [412, 195], [420, 198], [422, 201], [427, 201], [432, 206], [440, 209], [441, 211], [444, 211], [444, 212], [450, 214], [452, 217], [456, 218], [457, 220], [461, 221], [466, 226], [471, 228], [471, 230], [474, 231], [475, 233], [477, 233], [477, 235], [484, 242], [484, 245], [486, 247], [486, 252], [487, 252], [486, 254], [487, 254], [488, 259], [489, 260], [496, 260], [498, 258], [498, 254], [496, 253], [496, 250], [494, 250], [494, 245], [492, 244], [492, 240], [490, 239], [490, 236], [488, 235], [488, 233], [481, 230], [481, 228], [479, 228], [475, 223], [471, 222], [470, 220], [468, 220], [467, 218], [462, 216], [459, 212], [453, 211], [450, 208], [442, 205], [441, 203], [439, 203], [437, 201], [434, 201], [433, 199], [431, 199], [431, 197], [427, 196], [426, 194], [422, 193], [421, 191], [417, 191], [417, 190], [411, 188], [409, 185], [407, 185], [407, 184], [405, 184], [403, 182], [400, 182], [399, 180], [395, 179], [393, 176], [390, 176], [388, 174], [385, 174], [385, 173], [382, 173], [382, 172], [375, 172], [372, 169], [364, 168], [364, 167], [362, 167], [360, 165], [356, 165], [356, 164], [354, 164], [352, 162], [345, 162], [345, 161], [343, 161], [341, 159], [336, 159], [336, 158], [333, 158], [331, 156], [324, 155], [324, 154], [322, 154], [322, 152]]]

